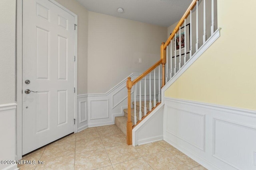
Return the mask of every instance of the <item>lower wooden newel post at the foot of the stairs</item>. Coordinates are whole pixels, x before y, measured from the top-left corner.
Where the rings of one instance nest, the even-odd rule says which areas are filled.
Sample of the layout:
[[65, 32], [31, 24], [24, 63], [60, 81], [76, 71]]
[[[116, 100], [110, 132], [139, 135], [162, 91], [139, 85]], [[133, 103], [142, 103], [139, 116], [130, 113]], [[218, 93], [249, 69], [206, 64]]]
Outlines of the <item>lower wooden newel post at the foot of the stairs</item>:
[[128, 89], [128, 120], [127, 120], [127, 145], [132, 145], [132, 120], [131, 120], [131, 89], [132, 80], [128, 77], [126, 82], [126, 87]]

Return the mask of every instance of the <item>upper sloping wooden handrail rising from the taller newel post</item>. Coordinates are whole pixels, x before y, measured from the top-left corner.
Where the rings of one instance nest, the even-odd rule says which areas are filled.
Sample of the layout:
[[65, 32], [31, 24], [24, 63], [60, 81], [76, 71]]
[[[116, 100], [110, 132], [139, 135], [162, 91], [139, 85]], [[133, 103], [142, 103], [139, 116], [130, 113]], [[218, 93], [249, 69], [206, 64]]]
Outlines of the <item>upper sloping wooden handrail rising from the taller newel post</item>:
[[171, 40], [174, 37], [174, 34], [178, 32], [178, 30], [180, 29], [180, 26], [184, 23], [184, 20], [189, 16], [190, 10], [193, 10], [193, 8], [196, 6], [196, 1], [198, 1], [198, 0], [193, 0], [191, 2], [190, 6], [186, 10], [185, 14], [182, 16], [182, 18], [180, 19], [180, 21], [178, 22], [178, 24], [176, 25], [176, 27], [172, 31], [170, 37], [167, 39], [166, 43], [164, 44], [164, 49], [166, 49], [167, 45], [170, 44]]

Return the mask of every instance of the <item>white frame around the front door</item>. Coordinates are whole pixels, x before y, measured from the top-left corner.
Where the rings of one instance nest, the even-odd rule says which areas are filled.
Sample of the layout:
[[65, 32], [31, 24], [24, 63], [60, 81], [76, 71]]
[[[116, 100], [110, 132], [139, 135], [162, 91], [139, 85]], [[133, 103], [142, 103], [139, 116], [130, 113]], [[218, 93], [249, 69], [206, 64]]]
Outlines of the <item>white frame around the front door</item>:
[[[75, 18], [75, 24], [77, 25], [77, 15], [56, 2], [55, 0], [48, 0], [55, 4], [56, 6], [62, 8]], [[16, 109], [16, 149], [15, 149], [15, 159], [20, 160], [22, 158], [22, 10], [23, 0], [16, 1], [16, 101], [17, 101], [17, 109]], [[76, 119], [74, 124], [74, 133], [77, 133], [77, 27], [75, 31], [75, 56], [76, 61], [75, 64], [75, 82], [74, 87], [75, 96], [74, 96], [74, 119]]]

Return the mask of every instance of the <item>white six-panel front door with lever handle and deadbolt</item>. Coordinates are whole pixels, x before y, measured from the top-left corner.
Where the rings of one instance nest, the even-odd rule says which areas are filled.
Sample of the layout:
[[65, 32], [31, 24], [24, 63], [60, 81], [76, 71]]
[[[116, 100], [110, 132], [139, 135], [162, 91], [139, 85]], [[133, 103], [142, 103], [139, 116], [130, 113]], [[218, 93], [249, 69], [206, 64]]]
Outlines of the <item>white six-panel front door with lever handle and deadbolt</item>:
[[74, 132], [74, 24], [48, 0], [23, 1], [22, 155]]

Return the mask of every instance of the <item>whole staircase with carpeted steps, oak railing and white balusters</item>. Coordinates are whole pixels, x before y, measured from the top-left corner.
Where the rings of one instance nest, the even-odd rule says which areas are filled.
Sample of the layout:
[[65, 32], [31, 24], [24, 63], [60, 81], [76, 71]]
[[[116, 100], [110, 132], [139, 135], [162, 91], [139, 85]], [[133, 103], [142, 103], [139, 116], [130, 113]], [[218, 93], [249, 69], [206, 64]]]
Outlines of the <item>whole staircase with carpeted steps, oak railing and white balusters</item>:
[[[160, 105], [165, 84], [169, 87], [174, 83], [216, 40], [219, 29], [215, 29], [214, 1], [192, 0], [167, 41], [160, 46], [160, 60], [136, 79], [128, 77], [128, 108], [124, 109], [124, 116], [115, 118], [117, 127], [126, 134], [128, 145], [132, 145], [132, 129]], [[206, 10], [206, 4], [211, 6], [210, 10], [209, 7]]]

